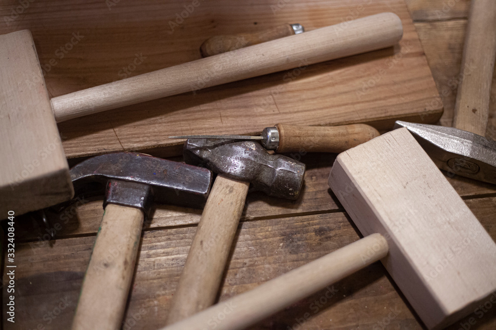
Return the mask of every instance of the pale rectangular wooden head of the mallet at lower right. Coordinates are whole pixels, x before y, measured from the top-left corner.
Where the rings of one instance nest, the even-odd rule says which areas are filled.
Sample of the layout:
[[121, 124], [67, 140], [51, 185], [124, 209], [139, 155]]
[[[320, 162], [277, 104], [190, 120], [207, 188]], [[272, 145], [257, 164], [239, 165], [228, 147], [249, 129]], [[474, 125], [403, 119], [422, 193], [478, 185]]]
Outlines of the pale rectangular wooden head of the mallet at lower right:
[[382, 263], [428, 328], [496, 290], [495, 242], [406, 129], [339, 154], [329, 186], [364, 236], [386, 237]]

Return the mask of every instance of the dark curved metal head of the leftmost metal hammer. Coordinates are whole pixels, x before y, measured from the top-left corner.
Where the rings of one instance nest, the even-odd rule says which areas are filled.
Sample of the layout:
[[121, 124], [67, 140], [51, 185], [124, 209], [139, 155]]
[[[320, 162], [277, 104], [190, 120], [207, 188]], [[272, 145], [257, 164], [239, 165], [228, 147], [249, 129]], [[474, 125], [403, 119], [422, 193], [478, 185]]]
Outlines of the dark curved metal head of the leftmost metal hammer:
[[137, 152], [89, 158], [70, 170], [76, 195], [103, 193], [105, 202], [140, 208], [145, 215], [155, 200], [201, 208], [213, 174], [207, 169]]

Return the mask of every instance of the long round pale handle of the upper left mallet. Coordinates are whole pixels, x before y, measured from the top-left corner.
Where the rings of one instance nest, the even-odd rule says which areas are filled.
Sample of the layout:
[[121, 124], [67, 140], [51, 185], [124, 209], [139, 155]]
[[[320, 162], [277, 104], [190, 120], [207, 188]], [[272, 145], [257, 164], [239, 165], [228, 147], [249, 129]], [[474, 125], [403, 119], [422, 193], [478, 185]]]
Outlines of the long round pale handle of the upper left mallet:
[[403, 35], [393, 13], [228, 51], [52, 98], [57, 122], [299, 66], [391, 47]]

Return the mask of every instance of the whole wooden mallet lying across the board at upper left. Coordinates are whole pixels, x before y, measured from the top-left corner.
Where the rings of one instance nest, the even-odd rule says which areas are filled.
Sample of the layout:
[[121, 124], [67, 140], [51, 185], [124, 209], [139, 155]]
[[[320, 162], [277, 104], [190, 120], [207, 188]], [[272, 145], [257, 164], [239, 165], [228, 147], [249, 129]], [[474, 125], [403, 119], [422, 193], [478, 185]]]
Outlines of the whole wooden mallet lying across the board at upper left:
[[[49, 98], [31, 33], [0, 36], [0, 218], [73, 194], [57, 122], [129, 104], [396, 45], [401, 20], [381, 13]], [[34, 83], [35, 82], [35, 83]], [[203, 85], [203, 84], [202, 84]]]

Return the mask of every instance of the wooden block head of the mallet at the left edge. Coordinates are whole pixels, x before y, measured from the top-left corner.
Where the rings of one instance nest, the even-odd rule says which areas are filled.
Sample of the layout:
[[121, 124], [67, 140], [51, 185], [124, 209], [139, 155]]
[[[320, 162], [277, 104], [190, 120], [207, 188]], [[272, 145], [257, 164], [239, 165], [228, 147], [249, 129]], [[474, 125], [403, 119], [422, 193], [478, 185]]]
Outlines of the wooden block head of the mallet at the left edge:
[[[74, 193], [31, 33], [0, 35], [0, 219]], [[3, 143], [7, 142], [7, 143]]]

